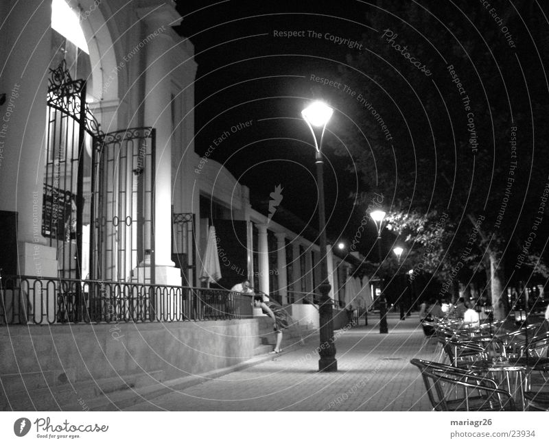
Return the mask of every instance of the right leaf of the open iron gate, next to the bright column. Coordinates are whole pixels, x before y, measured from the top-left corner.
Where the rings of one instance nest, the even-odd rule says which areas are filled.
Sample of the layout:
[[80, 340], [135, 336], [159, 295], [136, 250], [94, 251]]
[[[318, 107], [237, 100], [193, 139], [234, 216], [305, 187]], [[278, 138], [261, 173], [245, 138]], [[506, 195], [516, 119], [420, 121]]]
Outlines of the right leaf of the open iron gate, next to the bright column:
[[154, 128], [105, 134], [93, 156], [91, 278], [154, 283]]

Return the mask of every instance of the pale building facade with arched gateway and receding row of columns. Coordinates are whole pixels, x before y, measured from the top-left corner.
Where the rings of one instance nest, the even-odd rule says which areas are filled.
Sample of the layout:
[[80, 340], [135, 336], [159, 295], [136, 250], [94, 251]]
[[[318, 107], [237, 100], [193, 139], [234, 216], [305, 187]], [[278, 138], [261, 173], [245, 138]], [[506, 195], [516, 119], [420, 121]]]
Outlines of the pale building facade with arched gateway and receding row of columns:
[[[82, 280], [99, 282], [100, 295], [117, 282], [200, 288], [214, 226], [218, 286], [250, 278], [281, 304], [312, 301], [315, 240], [254, 210], [247, 187], [195, 152], [197, 65], [193, 45], [173, 29], [183, 20], [174, 2], [6, 1], [0, 12], [4, 276], [68, 280], [73, 288], [55, 298], [88, 306], [93, 292]], [[328, 252], [331, 298], [344, 302], [353, 265]], [[55, 298], [38, 311], [43, 288], [33, 279], [27, 286], [21, 293], [33, 297], [12, 293], [10, 302], [6, 293], [12, 320], [21, 321], [16, 306], [30, 304], [35, 322], [44, 311], [58, 321]], [[156, 296], [157, 313], [182, 310], [170, 292]]]

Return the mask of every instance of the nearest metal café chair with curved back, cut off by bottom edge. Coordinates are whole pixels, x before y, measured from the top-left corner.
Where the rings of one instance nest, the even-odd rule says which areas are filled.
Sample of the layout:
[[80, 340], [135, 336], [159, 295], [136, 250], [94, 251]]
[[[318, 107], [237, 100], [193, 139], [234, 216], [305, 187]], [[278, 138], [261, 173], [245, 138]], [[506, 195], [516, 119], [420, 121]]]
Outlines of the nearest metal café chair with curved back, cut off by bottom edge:
[[421, 359], [412, 359], [434, 411], [516, 411], [509, 392], [493, 380], [460, 368]]

